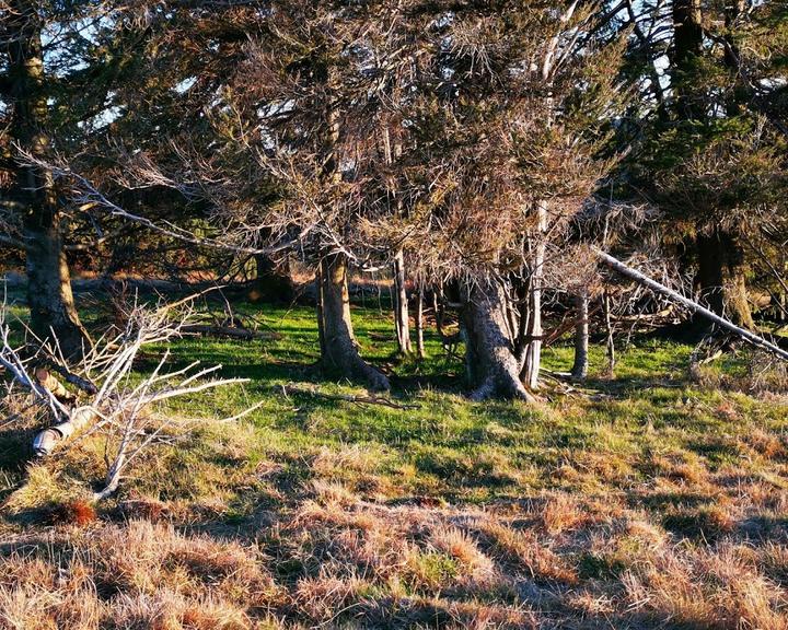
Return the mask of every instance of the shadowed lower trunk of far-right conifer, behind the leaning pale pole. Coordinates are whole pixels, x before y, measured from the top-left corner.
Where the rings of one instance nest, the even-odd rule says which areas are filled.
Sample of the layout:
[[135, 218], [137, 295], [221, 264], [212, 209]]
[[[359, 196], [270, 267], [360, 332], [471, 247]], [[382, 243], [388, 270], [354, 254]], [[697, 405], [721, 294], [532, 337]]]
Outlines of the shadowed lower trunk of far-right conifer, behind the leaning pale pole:
[[744, 253], [733, 235], [719, 229], [697, 237], [697, 285], [700, 302], [737, 326], [752, 329], [744, 279]]

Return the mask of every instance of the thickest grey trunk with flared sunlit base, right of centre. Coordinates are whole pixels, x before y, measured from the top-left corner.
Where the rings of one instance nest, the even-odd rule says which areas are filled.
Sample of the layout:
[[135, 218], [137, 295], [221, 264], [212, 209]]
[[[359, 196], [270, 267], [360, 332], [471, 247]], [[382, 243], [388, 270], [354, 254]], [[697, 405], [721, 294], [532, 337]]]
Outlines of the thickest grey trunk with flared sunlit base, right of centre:
[[533, 400], [520, 381], [503, 288], [494, 280], [478, 280], [463, 290], [463, 302], [465, 368], [474, 387], [471, 397]]

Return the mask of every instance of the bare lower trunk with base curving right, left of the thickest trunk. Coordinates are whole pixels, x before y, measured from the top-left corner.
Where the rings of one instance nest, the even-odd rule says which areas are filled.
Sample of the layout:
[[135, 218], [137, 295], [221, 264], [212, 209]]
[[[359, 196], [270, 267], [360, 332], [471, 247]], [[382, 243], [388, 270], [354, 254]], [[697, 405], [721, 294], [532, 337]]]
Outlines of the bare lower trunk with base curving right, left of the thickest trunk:
[[347, 258], [343, 254], [325, 256], [320, 264], [318, 322], [323, 364], [352, 381], [361, 381], [373, 390], [390, 388], [389, 380], [359, 354], [350, 320]]

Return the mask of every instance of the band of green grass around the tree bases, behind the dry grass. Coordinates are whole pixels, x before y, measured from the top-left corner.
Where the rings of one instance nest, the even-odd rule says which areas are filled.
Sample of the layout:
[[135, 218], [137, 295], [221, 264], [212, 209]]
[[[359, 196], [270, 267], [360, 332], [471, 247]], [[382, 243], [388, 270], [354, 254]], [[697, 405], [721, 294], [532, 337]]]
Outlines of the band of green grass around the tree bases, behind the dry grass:
[[[218, 363], [223, 366], [222, 376], [250, 380], [244, 386], [167, 405], [166, 413], [207, 422], [184, 447], [175, 452], [164, 448], [165, 459], [170, 459], [164, 468], [172, 466], [177, 471], [210, 463], [217, 470], [233, 468], [236, 472], [275, 459], [283, 462], [294, 478], [303, 478], [310, 475], [302, 470], [306, 468], [303, 462], [321, 448], [354, 445], [371, 454], [370, 476], [378, 479], [372, 486], [386, 486], [391, 499], [427, 494], [449, 501], [489, 502], [555, 488], [631, 492], [649, 479], [652, 471], [644, 462], [653, 456], [690, 458], [712, 471], [743, 459], [749, 459], [748, 468], [757, 468], [761, 460], [751, 456], [746, 436], [753, 430], [780, 432], [786, 427], [781, 399], [769, 401], [694, 385], [687, 377], [692, 347], [648, 338], [636, 340], [621, 353], [615, 378], [601, 376], [606, 359], [603, 349], [594, 346], [590, 378], [577, 392], [564, 395], [548, 380], [545, 401], [537, 405], [472, 402], [464, 396], [461, 359], [447, 358], [436, 335], [427, 335], [425, 361], [401, 361], [390, 314], [358, 305], [352, 315], [362, 354], [390, 373], [394, 400], [417, 408], [285, 396], [282, 385], [288, 383], [316, 386], [327, 394], [361, 389], [332, 381], [316, 366], [317, 332], [311, 308], [251, 303], [234, 307], [260, 329], [276, 332], [275, 338], [248, 342], [181, 339], [169, 348], [147, 349], [146, 360], [138, 366], [144, 373], [169, 350], [170, 369], [193, 361]], [[86, 313], [85, 318], [95, 319], [95, 313]], [[545, 368], [568, 370], [571, 352], [568, 346], [547, 348]], [[243, 453], [230, 459], [216, 454], [221, 441], [217, 442], [210, 420], [233, 416], [260, 401], [258, 409], [237, 423], [245, 440]], [[589, 458], [611, 468], [609, 478], [588, 474]], [[570, 468], [577, 475], [567, 474]], [[79, 470], [71, 474], [81, 477]], [[142, 476], [140, 483], [153, 490], [159, 481], [151, 483]], [[169, 495], [181, 493], [184, 498], [207, 497], [213, 491], [210, 482], [186, 480], [183, 488], [166, 489]]]

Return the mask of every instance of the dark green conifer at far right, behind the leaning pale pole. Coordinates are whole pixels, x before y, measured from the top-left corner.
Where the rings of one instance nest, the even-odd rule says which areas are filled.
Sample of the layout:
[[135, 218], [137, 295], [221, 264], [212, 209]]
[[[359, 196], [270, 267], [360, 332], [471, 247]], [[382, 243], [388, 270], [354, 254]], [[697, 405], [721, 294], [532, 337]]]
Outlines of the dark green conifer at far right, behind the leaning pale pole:
[[765, 208], [779, 206], [775, 176], [785, 168], [784, 12], [776, 2], [673, 0], [657, 16], [659, 35], [641, 43], [650, 58], [668, 54], [670, 83], [660, 80], [662, 101], [637, 184], [667, 210], [673, 228], [667, 241], [690, 253], [700, 299], [749, 328], [749, 242]]

